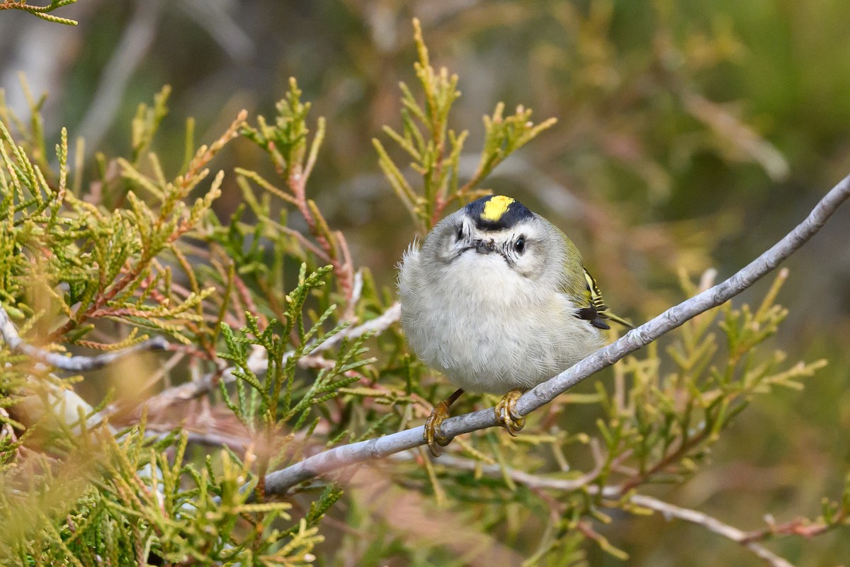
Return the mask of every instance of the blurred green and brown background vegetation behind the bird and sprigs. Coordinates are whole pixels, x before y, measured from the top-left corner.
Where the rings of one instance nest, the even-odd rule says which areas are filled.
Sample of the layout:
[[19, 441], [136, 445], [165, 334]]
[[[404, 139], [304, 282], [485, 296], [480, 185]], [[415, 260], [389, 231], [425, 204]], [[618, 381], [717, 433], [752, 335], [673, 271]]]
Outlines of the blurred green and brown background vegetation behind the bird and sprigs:
[[[564, 228], [609, 305], [633, 320], [678, 300], [679, 270], [734, 272], [850, 171], [850, 13], [837, 0], [80, 0], [61, 15], [79, 25], [0, 17], [0, 87], [22, 116], [19, 73], [34, 96], [49, 93], [48, 147], [67, 126], [71, 140], [85, 138], [87, 166], [95, 150], [126, 155], [137, 105], [169, 84], [154, 149], [173, 171], [186, 117], [196, 138], [214, 139], [238, 109], [272, 115], [295, 76], [328, 122], [310, 193], [346, 234], [354, 264], [388, 287], [415, 235], [371, 138], [399, 126], [398, 83], [414, 81], [413, 16], [434, 65], [460, 77], [452, 126], [470, 140], [498, 101], [534, 109], [536, 121], [558, 118], [488, 186]], [[263, 157], [239, 139], [217, 166], [269, 172]], [[477, 159], [462, 159], [462, 171], [472, 175]], [[219, 216], [240, 200], [228, 174]], [[775, 347], [829, 366], [805, 390], [758, 397], [705, 471], [657, 496], [742, 529], [764, 514], [811, 517], [821, 497], [837, 497], [850, 458], [848, 226], [845, 207], [787, 263], [779, 297], [790, 315]], [[744, 300], [757, 302], [766, 285]], [[693, 525], [617, 520], [605, 536], [630, 553], [628, 564], [759, 564]], [[774, 549], [792, 562], [839, 564], [850, 538], [843, 529]], [[588, 551], [591, 564], [620, 564]]]

